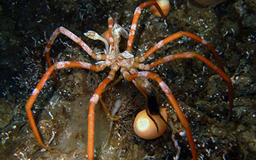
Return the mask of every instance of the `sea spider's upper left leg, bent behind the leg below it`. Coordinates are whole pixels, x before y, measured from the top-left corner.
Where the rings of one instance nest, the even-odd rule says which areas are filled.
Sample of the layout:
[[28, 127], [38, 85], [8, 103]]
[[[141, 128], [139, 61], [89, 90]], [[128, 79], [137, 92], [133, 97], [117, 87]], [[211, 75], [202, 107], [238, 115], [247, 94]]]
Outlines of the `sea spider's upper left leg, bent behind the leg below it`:
[[[83, 48], [83, 50], [85, 50], [92, 58], [96, 59], [96, 60], [105, 60], [106, 59], [106, 55], [97, 55], [95, 54], [91, 48], [89, 46], [87, 46], [87, 44], [85, 42], [82, 41], [82, 39], [80, 39], [78, 36], [75, 36], [74, 33], [72, 33], [71, 31], [67, 30], [64, 27], [59, 27], [56, 28], [55, 31], [53, 31], [52, 35], [50, 36], [50, 39], [48, 40], [48, 43], [45, 47], [44, 50], [44, 55], [46, 57], [46, 61], [50, 67], [50, 65], [52, 65], [52, 62], [50, 60], [50, 48], [53, 45], [53, 42], [55, 41], [55, 39], [57, 38], [57, 36], [59, 35], [59, 33], [64, 34], [65, 36], [69, 37], [69, 39], [71, 39], [72, 41], [75, 41], [75, 43], [79, 44], [80, 47]], [[59, 87], [59, 82], [57, 80], [57, 76], [56, 73], [53, 71], [53, 79], [56, 82], [57, 87], [59, 88], [59, 90], [61, 91], [60, 87]]]

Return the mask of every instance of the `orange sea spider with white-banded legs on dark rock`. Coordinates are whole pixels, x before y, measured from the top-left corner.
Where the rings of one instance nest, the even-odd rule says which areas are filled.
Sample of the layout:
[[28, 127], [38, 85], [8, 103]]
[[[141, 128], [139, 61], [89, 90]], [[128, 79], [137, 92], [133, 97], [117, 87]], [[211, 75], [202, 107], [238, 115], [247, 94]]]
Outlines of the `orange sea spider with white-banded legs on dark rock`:
[[[208, 67], [212, 68], [217, 74], [219, 74], [219, 76], [222, 76], [222, 79], [224, 79], [224, 81], [227, 82], [228, 90], [229, 90], [228, 95], [230, 100], [229, 116], [233, 107], [232, 83], [230, 81], [230, 78], [225, 74], [224, 67], [219, 59], [219, 56], [217, 55], [217, 52], [211, 46], [211, 44], [208, 44], [206, 40], [201, 39], [195, 34], [192, 34], [186, 31], [179, 31], [177, 33], [172, 34], [171, 36], [167, 36], [167, 38], [155, 44], [154, 47], [151, 47], [151, 49], [148, 49], [148, 51], [143, 56], [134, 57], [134, 55], [132, 55], [132, 42], [135, 36], [135, 30], [138, 24], [140, 12], [141, 12], [141, 9], [151, 5], [155, 5], [158, 8], [159, 12], [161, 12], [157, 2], [155, 1], [147, 1], [143, 4], [140, 4], [135, 9], [132, 25], [129, 30], [129, 39], [127, 41], [127, 49], [124, 52], [119, 52], [118, 45], [119, 45], [121, 36], [124, 36], [127, 33], [127, 31], [124, 28], [121, 28], [120, 25], [114, 23], [114, 20], [112, 17], [108, 18], [109, 43], [94, 31], [89, 31], [85, 33], [85, 35], [88, 36], [90, 39], [101, 40], [105, 43], [105, 54], [102, 54], [102, 55], [94, 53], [91, 50], [91, 48], [87, 46], [85, 42], [83, 42], [80, 38], [78, 38], [78, 36], [75, 36], [75, 34], [73, 34], [72, 32], [70, 32], [64, 27], [59, 27], [56, 29], [56, 31], [53, 32], [53, 34], [50, 36], [50, 39], [44, 51], [47, 57], [48, 65], [50, 67], [42, 76], [42, 79], [40, 79], [39, 83], [37, 84], [37, 87], [31, 93], [31, 96], [29, 97], [29, 100], [26, 103], [26, 115], [29, 119], [31, 129], [34, 132], [34, 135], [39, 145], [41, 145], [46, 150], [52, 152], [52, 150], [48, 148], [46, 145], [44, 145], [44, 143], [41, 140], [39, 131], [37, 129], [37, 126], [34, 121], [34, 117], [31, 112], [31, 108], [34, 104], [34, 100], [39, 95], [40, 90], [42, 89], [42, 87], [44, 87], [50, 75], [53, 75], [54, 79], [56, 80], [56, 74], [54, 73], [54, 70], [61, 69], [61, 68], [85, 68], [92, 71], [102, 71], [105, 68], [109, 67], [110, 72], [108, 73], [108, 77], [105, 78], [101, 84], [99, 84], [96, 91], [94, 92], [94, 95], [92, 95], [90, 99], [89, 116], [88, 116], [88, 144], [87, 144], [88, 159], [94, 158], [94, 106], [98, 103], [99, 97], [101, 96], [103, 90], [107, 87], [107, 85], [111, 81], [113, 81], [116, 75], [116, 72], [119, 70], [121, 72], [121, 75], [124, 77], [124, 79], [126, 79], [127, 81], [132, 81], [132, 83], [135, 84], [135, 87], [137, 87], [144, 96], [147, 96], [148, 93], [151, 92], [151, 84], [148, 81], [148, 79], [157, 81], [157, 83], [159, 84], [159, 87], [161, 87], [162, 91], [165, 92], [167, 99], [170, 100], [171, 105], [176, 110], [178, 119], [181, 121], [182, 126], [186, 130], [187, 139], [189, 141], [189, 146], [192, 152], [192, 157], [193, 159], [197, 159], [197, 151], [196, 151], [195, 143], [192, 137], [192, 132], [190, 131], [189, 123], [186, 117], [184, 116], [184, 113], [181, 111], [181, 108], [179, 107], [176, 99], [173, 97], [173, 94], [170, 92], [169, 87], [167, 87], [167, 84], [165, 84], [165, 82], [162, 81], [162, 79], [159, 77], [157, 73], [152, 73], [150, 70], [151, 68], [154, 68], [157, 65], [160, 65], [162, 63], [167, 63], [172, 60], [196, 57], [197, 59], [201, 60], [203, 63], [208, 65]], [[164, 15], [162, 15], [162, 17], [164, 17]], [[80, 62], [80, 61], [63, 61], [63, 62], [56, 62], [52, 64], [50, 62], [49, 52], [53, 44], [53, 41], [55, 41], [59, 33], [62, 33], [65, 36], [69, 37], [69, 39], [72, 39], [72, 41], [75, 41], [75, 43], [79, 44], [80, 47], [83, 48], [83, 50], [85, 50], [92, 58], [94, 58], [95, 60], [98, 60], [98, 62], [95, 65], [91, 63]], [[211, 61], [207, 60], [206, 57], [203, 57], [202, 55], [199, 55], [195, 52], [181, 52], [176, 55], [167, 55], [166, 57], [162, 57], [159, 60], [155, 60], [153, 63], [150, 63], [150, 64], [143, 63], [150, 55], [156, 52], [157, 49], [161, 48], [165, 44], [170, 43], [170, 41], [181, 38], [182, 36], [187, 36], [191, 39], [194, 39], [195, 41], [198, 41], [199, 43], [203, 44], [208, 49], [210, 49], [214, 57], [217, 59], [217, 62], [219, 63], [219, 66], [221, 69], [217, 68], [217, 66], [211, 63]], [[59, 87], [59, 84], [57, 81], [56, 81], [56, 84]]]

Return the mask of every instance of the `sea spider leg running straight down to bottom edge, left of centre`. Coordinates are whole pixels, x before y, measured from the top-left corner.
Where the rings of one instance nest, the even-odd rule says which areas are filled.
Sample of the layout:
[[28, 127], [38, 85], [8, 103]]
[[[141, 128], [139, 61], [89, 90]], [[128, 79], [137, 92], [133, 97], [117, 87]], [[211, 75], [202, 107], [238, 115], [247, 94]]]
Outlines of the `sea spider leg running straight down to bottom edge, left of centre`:
[[112, 69], [108, 74], [108, 77], [104, 79], [101, 84], [99, 84], [99, 86], [94, 92], [94, 95], [92, 95], [90, 99], [89, 114], [88, 114], [88, 140], [87, 140], [87, 155], [89, 160], [94, 159], [94, 106], [98, 103], [99, 97], [102, 94], [102, 91], [110, 83], [110, 81], [113, 81], [115, 75], [116, 75], [116, 71]]

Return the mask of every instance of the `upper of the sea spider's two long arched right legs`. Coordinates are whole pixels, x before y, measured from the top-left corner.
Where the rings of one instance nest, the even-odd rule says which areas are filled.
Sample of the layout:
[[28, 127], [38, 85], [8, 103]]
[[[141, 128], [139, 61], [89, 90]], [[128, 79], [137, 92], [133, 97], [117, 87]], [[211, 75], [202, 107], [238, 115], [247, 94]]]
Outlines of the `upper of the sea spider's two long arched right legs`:
[[143, 56], [139, 57], [139, 59], [136, 61], [143, 63], [144, 60], [146, 60], [146, 58], [148, 58], [150, 55], [152, 55], [154, 52], [156, 52], [157, 49], [161, 48], [165, 44], [170, 43], [170, 41], [181, 38], [181, 36], [187, 36], [191, 39], [194, 39], [195, 41], [198, 41], [200, 44], [203, 44], [208, 49], [210, 49], [212, 54], [216, 58], [217, 62], [219, 63], [219, 66], [222, 69], [222, 71], [225, 71], [224, 67], [222, 65], [222, 61], [220, 60], [219, 55], [215, 51], [214, 47], [212, 47], [211, 44], [209, 44], [206, 40], [201, 39], [199, 36], [196, 36], [195, 34], [192, 34], [192, 33], [186, 32], [186, 31], [179, 31], [177, 33], [174, 33], [174, 34], [168, 36], [167, 38], [163, 39], [162, 41], [159, 41], [157, 44], [154, 45], [154, 47], [151, 47], [151, 49], [148, 49], [148, 51]]

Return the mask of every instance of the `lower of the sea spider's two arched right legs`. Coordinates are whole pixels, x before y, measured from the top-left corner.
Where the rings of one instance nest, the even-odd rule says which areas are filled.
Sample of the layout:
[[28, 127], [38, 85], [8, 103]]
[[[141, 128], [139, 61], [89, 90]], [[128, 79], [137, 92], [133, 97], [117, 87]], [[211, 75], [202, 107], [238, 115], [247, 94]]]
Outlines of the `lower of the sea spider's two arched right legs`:
[[203, 57], [203, 55], [200, 55], [200, 54], [195, 53], [195, 52], [184, 52], [184, 53], [178, 53], [176, 55], [168, 55], [166, 57], [163, 57], [163, 58], [161, 58], [159, 60], [154, 61], [151, 64], [139, 65], [139, 69], [141, 69], [141, 70], [145, 70], [145, 69], [149, 70], [149, 69], [154, 68], [157, 65], [160, 65], [162, 63], [170, 62], [171, 60], [187, 59], [187, 58], [193, 58], [193, 57], [197, 57], [203, 63], [208, 65], [217, 74], [219, 74], [219, 76], [221, 76], [222, 79], [224, 79], [224, 81], [227, 83], [227, 85], [228, 85], [228, 99], [229, 99], [229, 105], [230, 105], [227, 119], [230, 119], [230, 116], [231, 116], [231, 113], [232, 113], [232, 109], [233, 109], [233, 87], [232, 87], [232, 81], [227, 76], [227, 74], [225, 74], [224, 71], [222, 71], [221, 69], [217, 68], [217, 66], [214, 65], [214, 63], [211, 63], [211, 61], [208, 60], [206, 57]]

